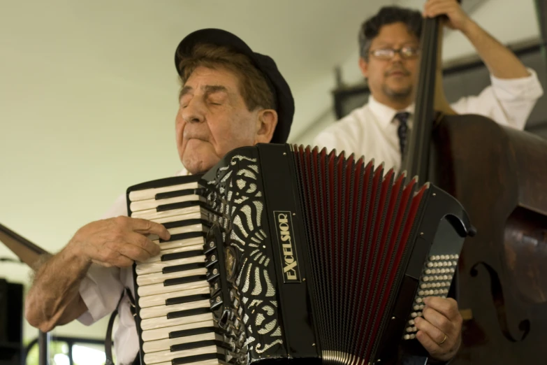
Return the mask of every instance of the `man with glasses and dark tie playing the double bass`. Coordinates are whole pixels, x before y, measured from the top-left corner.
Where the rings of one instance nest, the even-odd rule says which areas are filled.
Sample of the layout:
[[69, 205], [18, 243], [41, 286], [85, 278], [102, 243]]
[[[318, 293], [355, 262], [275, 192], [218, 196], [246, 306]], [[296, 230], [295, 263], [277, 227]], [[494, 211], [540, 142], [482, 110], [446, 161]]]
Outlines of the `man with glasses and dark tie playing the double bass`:
[[446, 25], [461, 31], [474, 45], [492, 83], [478, 96], [453, 103], [453, 110], [524, 128], [543, 94], [536, 73], [469, 18], [456, 0], [429, 0], [423, 14], [388, 6], [363, 23], [359, 67], [370, 88], [368, 103], [322, 131], [315, 145], [374, 158], [377, 163], [384, 162], [386, 169], [400, 169], [414, 114], [422, 16], [438, 15], [446, 15]]

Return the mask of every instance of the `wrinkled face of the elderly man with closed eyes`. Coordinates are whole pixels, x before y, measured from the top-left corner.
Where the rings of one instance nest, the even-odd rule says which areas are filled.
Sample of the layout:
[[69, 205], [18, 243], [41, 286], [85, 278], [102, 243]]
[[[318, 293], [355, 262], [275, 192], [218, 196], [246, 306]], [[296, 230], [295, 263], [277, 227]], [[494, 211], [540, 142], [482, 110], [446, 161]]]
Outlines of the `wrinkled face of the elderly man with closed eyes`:
[[211, 169], [234, 148], [254, 145], [259, 110], [249, 111], [234, 73], [198, 66], [180, 92], [177, 150], [193, 174]]

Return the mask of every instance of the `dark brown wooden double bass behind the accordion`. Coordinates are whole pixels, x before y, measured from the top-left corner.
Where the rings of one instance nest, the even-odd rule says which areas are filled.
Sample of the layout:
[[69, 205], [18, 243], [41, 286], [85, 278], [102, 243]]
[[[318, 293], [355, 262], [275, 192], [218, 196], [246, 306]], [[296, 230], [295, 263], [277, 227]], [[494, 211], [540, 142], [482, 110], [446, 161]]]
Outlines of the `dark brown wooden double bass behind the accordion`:
[[545, 364], [547, 141], [455, 113], [442, 91], [441, 43], [441, 18], [425, 19], [403, 169], [455, 196], [476, 228], [452, 288], [464, 322], [451, 364]]

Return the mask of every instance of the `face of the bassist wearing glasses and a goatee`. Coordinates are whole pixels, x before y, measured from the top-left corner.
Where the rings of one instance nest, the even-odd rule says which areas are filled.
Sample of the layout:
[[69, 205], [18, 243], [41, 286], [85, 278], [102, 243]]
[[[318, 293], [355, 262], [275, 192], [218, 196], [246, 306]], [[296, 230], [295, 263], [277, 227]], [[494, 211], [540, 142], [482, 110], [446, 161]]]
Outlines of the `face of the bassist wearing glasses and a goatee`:
[[402, 50], [409, 55], [411, 50], [417, 50], [418, 47], [419, 39], [408, 31], [404, 23], [398, 22], [381, 27], [378, 36], [370, 45], [368, 60], [360, 59], [361, 71], [368, 79], [373, 94], [382, 94], [392, 100], [407, 99], [411, 96], [418, 69], [418, 57], [402, 57], [397, 52], [393, 57], [389, 55], [391, 50]]

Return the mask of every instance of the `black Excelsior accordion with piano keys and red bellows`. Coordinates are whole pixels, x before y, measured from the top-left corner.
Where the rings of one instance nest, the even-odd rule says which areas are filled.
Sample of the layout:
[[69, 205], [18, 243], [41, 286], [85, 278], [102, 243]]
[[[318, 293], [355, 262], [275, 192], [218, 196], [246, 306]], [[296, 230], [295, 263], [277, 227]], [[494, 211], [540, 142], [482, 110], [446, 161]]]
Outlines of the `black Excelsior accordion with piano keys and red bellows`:
[[134, 185], [127, 203], [171, 234], [151, 237], [160, 255], [133, 266], [146, 365], [371, 364], [423, 352], [414, 318], [424, 297], [447, 296], [473, 231], [432, 184], [289, 144]]

